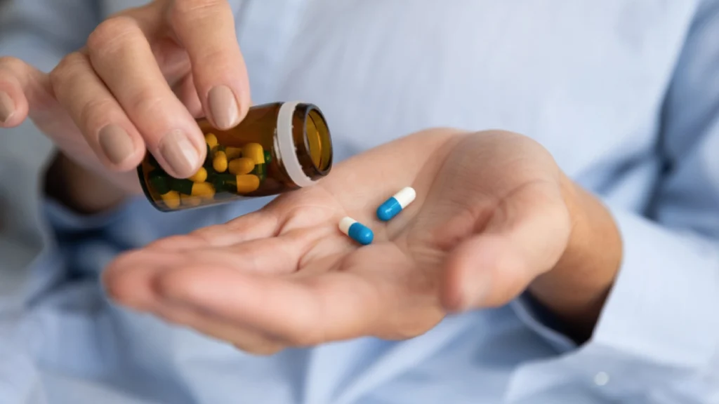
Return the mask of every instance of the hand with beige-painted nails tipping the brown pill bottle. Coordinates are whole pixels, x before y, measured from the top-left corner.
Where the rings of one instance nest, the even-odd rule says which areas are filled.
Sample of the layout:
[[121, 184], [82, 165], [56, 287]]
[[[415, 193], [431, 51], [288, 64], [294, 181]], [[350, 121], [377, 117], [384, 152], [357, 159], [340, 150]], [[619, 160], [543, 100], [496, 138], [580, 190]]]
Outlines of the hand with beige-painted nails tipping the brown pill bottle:
[[226, 129], [249, 103], [226, 1], [158, 0], [117, 14], [49, 75], [0, 59], [0, 127], [29, 116], [73, 163], [132, 193], [145, 150], [186, 178], [206, 153], [195, 119]]

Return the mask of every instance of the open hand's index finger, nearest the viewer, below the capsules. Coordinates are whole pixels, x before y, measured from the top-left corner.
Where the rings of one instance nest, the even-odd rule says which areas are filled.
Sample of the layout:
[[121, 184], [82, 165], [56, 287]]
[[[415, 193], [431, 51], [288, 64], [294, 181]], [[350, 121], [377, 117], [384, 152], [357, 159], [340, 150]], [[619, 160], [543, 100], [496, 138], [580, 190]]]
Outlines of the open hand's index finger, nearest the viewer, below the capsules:
[[292, 346], [362, 335], [382, 313], [375, 288], [348, 273], [291, 280], [200, 266], [165, 275], [158, 280], [165, 298], [262, 330]]

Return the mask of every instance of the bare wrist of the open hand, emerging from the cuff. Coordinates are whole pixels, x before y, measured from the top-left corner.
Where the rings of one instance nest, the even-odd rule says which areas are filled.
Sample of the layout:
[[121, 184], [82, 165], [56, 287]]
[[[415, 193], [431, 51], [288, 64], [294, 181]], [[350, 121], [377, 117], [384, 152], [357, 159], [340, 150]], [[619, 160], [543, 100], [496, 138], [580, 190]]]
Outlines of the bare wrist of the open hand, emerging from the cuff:
[[613, 217], [595, 196], [562, 174], [572, 231], [562, 257], [529, 293], [557, 316], [572, 338], [592, 334], [620, 267], [622, 243]]

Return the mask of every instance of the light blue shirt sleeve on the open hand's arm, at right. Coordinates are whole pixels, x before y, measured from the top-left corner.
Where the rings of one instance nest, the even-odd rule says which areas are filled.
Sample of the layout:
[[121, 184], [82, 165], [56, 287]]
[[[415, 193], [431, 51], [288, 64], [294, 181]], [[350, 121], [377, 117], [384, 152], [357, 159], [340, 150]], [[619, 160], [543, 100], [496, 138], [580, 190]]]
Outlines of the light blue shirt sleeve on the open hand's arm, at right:
[[696, 16], [664, 100], [667, 164], [650, 206], [638, 214], [607, 203], [623, 262], [592, 338], [575, 346], [529, 298], [513, 302], [562, 353], [521, 369], [514, 398], [547, 387], [557, 372], [556, 383], [613, 399], [719, 398], [719, 1], [705, 1]]

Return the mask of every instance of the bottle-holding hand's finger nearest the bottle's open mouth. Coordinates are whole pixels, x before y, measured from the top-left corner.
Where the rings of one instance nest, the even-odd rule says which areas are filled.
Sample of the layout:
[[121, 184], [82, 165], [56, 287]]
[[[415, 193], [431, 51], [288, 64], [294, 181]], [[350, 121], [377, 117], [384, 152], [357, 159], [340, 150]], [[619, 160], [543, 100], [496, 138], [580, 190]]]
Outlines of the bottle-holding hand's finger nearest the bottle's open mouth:
[[249, 79], [226, 0], [175, 0], [168, 21], [186, 48], [197, 93], [219, 129], [239, 124], [249, 109]]

